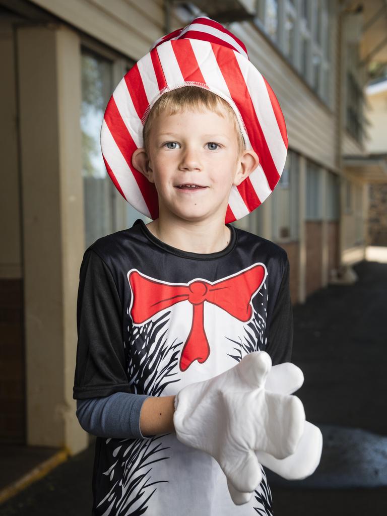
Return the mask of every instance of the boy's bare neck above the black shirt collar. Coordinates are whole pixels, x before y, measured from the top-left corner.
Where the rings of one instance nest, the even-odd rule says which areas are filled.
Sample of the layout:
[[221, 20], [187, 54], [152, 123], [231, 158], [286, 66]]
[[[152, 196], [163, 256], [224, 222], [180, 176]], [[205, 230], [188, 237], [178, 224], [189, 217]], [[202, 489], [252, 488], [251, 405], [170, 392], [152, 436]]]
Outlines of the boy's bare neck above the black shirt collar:
[[231, 239], [231, 230], [218, 220], [192, 223], [184, 220], [152, 220], [149, 231], [165, 244], [193, 253], [208, 254], [222, 251]]

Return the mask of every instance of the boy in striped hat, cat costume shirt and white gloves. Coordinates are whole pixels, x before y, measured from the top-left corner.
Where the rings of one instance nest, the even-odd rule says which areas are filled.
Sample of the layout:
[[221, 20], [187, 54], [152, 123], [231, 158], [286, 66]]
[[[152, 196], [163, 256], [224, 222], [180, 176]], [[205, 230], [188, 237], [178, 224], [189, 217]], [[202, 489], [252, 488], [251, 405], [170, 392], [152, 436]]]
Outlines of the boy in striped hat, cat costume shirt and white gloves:
[[[74, 398], [93, 407], [89, 428], [98, 428], [93, 514], [272, 514], [251, 446], [242, 450], [251, 467], [231, 459], [244, 447], [238, 438], [257, 433], [244, 426], [266, 402], [273, 410], [262, 409], [260, 425], [264, 413], [291, 422], [279, 417], [262, 432], [267, 447], [254, 449], [293, 454], [304, 414], [288, 394], [302, 380], [234, 396], [246, 379], [263, 386], [271, 362], [290, 360], [289, 263], [281, 247], [230, 222], [278, 183], [287, 150], [278, 102], [243, 43], [199, 18], [125, 75], [101, 144], [116, 187], [153, 221], [97, 240], [80, 270]], [[95, 423], [97, 404], [105, 410], [114, 396]], [[136, 397], [134, 415], [126, 408]]]

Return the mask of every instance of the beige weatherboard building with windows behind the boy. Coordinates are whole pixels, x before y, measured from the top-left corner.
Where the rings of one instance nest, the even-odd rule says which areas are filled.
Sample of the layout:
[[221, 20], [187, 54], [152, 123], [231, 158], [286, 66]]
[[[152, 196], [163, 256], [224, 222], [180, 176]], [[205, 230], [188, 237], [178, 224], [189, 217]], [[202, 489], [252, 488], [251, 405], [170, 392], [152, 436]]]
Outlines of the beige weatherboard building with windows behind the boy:
[[364, 158], [367, 65], [387, 52], [381, 4], [0, 1], [3, 443], [88, 445], [72, 399], [79, 265], [96, 238], [141, 216], [107, 178], [103, 112], [134, 61], [200, 9], [246, 43], [289, 138], [280, 184], [235, 224], [286, 249], [294, 303], [363, 259], [369, 176], [385, 177]]

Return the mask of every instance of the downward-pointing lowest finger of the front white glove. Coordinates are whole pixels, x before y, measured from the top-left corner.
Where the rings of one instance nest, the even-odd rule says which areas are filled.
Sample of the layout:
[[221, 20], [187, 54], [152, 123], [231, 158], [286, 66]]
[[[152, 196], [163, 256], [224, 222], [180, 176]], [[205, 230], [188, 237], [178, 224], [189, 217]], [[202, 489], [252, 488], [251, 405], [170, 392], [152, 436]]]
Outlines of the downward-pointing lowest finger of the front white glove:
[[237, 464], [228, 460], [227, 468], [223, 469], [221, 464], [220, 466], [237, 491], [252, 492], [262, 480], [261, 465], [254, 450], [249, 450], [248, 453], [239, 454], [239, 456], [240, 460]]

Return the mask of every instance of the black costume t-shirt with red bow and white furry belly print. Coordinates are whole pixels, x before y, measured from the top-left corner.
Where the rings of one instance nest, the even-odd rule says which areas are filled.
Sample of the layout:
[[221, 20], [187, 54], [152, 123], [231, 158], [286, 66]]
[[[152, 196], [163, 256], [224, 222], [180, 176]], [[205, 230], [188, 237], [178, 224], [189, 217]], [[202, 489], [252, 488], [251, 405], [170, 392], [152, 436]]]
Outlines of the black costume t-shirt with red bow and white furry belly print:
[[[223, 250], [193, 253], [156, 238], [141, 219], [92, 244], [80, 267], [74, 399], [177, 394], [247, 353], [291, 360], [289, 262], [280, 246], [227, 224]], [[175, 434], [97, 438], [93, 514], [271, 514], [263, 480], [236, 506], [218, 463]], [[130, 510], [129, 510], [130, 509]]]

